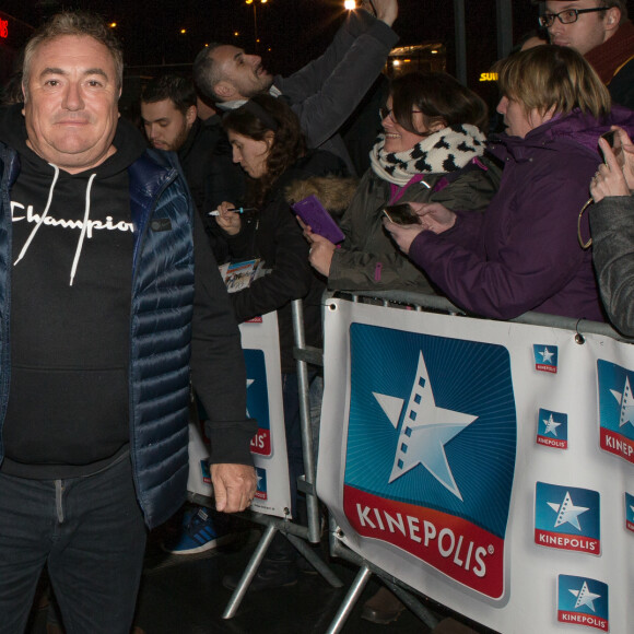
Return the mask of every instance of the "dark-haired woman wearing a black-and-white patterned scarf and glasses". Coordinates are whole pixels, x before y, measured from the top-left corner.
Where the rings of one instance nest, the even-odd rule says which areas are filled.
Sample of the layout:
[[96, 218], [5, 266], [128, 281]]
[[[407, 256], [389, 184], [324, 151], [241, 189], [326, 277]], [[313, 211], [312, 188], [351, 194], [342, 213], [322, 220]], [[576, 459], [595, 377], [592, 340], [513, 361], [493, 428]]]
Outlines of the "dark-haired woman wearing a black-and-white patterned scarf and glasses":
[[486, 106], [446, 73], [415, 72], [391, 82], [380, 117], [385, 133], [340, 223], [345, 242], [336, 248], [307, 228], [310, 263], [331, 289], [428, 292], [420, 269], [384, 231], [384, 209], [412, 201], [485, 208], [498, 180], [483, 156]]

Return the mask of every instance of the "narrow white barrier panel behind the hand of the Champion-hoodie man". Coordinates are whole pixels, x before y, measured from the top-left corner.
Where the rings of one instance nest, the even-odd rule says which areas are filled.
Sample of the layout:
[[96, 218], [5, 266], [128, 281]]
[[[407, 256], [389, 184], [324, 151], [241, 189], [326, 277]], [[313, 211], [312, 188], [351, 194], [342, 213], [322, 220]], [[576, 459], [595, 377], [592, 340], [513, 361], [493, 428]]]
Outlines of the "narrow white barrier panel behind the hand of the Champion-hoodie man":
[[[290, 517], [291, 491], [277, 313], [240, 324], [240, 334], [247, 367], [247, 415], [258, 421], [258, 432], [251, 441], [258, 489], [250, 508], [267, 515]], [[209, 451], [203, 439], [190, 425], [187, 489], [209, 496], [211, 483], [207, 458]]]

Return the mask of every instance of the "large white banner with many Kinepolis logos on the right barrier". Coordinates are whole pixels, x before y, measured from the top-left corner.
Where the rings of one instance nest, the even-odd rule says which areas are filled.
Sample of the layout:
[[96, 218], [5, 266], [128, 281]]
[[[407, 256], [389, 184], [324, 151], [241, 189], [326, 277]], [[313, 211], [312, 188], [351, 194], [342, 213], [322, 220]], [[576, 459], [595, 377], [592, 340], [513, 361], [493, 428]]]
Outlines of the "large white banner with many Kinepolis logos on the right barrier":
[[347, 545], [505, 634], [634, 632], [632, 345], [343, 300], [325, 337]]

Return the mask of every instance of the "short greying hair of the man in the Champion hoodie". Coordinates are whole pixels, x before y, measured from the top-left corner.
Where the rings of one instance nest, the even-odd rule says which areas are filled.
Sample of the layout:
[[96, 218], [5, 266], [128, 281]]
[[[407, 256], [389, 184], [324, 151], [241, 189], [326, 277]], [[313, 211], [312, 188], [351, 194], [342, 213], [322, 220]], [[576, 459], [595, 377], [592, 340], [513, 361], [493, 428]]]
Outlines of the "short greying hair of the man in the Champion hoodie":
[[25, 99], [27, 97], [28, 80], [31, 79], [33, 56], [43, 44], [64, 35], [92, 37], [103, 44], [113, 56], [113, 61], [115, 62], [117, 89], [121, 87], [124, 84], [124, 50], [106, 22], [101, 16], [86, 11], [63, 11], [45, 22], [33, 34], [24, 48], [22, 84]]

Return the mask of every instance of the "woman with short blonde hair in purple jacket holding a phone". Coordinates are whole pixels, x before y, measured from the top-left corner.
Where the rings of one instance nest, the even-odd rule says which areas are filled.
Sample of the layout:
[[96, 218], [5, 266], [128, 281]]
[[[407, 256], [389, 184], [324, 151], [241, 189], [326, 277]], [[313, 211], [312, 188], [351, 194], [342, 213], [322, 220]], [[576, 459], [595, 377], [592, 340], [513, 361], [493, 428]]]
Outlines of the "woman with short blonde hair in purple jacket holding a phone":
[[[498, 67], [497, 110], [507, 133], [490, 150], [504, 162], [484, 214], [412, 204], [420, 224], [386, 222], [400, 248], [458, 306], [512, 319], [537, 310], [603, 321], [591, 254], [577, 236], [588, 183], [610, 125], [634, 130], [634, 113], [610, 111], [607, 89], [571, 48], [540, 46]], [[580, 235], [589, 235], [587, 214]]]

